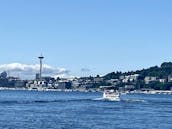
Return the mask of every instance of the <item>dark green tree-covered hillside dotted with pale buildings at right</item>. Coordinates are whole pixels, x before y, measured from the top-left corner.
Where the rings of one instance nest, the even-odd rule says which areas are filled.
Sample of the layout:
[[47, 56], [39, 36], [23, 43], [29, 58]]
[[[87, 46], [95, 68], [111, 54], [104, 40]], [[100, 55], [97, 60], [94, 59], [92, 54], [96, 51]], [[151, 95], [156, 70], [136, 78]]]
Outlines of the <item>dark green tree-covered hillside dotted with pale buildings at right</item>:
[[[138, 75], [134, 81], [125, 79], [131, 75]], [[121, 77], [124, 79], [121, 81]], [[135, 89], [152, 88], [156, 90], [170, 90], [172, 88], [172, 62], [164, 62], [160, 66], [130, 72], [112, 72], [105, 75], [104, 80], [118, 79], [118, 87], [133, 85]]]

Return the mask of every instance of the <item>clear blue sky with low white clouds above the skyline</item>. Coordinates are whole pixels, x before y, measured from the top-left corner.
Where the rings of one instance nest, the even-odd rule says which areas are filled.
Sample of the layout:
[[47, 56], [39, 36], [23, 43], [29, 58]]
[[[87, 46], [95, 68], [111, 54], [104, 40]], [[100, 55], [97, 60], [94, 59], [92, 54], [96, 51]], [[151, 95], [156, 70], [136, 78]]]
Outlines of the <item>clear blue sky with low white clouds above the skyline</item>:
[[171, 0], [0, 1], [0, 71], [95, 76], [172, 61]]

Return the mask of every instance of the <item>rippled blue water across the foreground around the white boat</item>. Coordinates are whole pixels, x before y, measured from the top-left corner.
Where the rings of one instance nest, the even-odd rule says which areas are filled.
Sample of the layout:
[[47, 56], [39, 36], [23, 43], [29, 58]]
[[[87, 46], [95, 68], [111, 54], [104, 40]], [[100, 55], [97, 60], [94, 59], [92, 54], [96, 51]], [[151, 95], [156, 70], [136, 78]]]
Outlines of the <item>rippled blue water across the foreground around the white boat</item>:
[[172, 95], [0, 91], [0, 129], [172, 129]]

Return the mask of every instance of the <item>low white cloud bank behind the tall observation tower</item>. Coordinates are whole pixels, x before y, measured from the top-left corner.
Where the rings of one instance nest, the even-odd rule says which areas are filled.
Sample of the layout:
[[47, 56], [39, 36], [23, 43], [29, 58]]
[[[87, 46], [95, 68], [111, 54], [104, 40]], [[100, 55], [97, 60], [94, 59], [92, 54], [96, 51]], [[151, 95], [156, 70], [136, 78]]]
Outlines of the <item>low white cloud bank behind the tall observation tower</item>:
[[[28, 65], [21, 63], [1, 64], [0, 72], [6, 71], [10, 76], [20, 76], [22, 79], [33, 79], [39, 73], [39, 64]], [[67, 77], [70, 71], [47, 64], [43, 65], [43, 76]]]

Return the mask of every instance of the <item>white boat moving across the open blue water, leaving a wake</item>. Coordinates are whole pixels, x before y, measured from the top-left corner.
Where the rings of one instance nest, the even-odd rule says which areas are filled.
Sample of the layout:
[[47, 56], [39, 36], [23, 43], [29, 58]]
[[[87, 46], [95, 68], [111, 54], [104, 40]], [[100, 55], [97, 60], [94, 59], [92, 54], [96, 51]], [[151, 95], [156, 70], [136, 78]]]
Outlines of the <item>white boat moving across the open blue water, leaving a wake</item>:
[[103, 99], [110, 101], [119, 101], [120, 93], [115, 90], [105, 90], [103, 93]]

